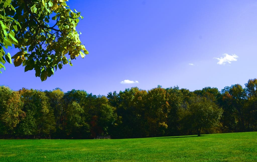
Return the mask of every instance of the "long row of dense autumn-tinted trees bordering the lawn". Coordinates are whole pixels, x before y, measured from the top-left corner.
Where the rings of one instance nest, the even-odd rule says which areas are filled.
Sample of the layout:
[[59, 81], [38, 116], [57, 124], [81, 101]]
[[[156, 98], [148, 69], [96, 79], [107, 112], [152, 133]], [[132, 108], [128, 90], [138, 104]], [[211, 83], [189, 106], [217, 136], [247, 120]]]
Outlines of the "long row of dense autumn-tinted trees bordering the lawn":
[[0, 138], [143, 138], [257, 131], [257, 79], [189, 91], [128, 88], [107, 96], [0, 86]]

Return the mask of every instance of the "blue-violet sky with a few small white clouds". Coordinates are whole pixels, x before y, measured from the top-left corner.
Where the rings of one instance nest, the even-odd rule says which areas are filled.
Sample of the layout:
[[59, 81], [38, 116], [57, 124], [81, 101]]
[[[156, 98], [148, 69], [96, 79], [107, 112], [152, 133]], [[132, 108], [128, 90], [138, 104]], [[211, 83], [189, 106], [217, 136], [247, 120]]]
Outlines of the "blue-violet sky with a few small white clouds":
[[[89, 54], [41, 82], [35, 71], [5, 64], [0, 85], [94, 95], [161, 85], [190, 91], [256, 78], [257, 2], [70, 0]], [[12, 52], [13, 51], [13, 52]], [[11, 55], [15, 49], [11, 49]]]

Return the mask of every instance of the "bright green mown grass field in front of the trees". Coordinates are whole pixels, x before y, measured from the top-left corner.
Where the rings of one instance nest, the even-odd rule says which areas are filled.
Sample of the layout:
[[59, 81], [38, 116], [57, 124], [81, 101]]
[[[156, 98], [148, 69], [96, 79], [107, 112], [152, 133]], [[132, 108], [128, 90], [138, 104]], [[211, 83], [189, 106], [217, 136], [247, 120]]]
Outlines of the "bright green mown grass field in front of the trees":
[[257, 161], [257, 132], [141, 139], [0, 140], [0, 161]]

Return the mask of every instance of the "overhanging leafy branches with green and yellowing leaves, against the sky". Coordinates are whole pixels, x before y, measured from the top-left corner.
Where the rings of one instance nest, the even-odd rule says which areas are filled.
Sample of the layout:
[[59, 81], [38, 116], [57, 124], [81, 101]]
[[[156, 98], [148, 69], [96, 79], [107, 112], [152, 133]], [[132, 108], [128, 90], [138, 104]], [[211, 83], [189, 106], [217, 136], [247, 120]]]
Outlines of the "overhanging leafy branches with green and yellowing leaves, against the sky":
[[[44, 81], [64, 64], [72, 66], [72, 59], [88, 54], [76, 31], [83, 17], [66, 1], [0, 0], [0, 69], [14, 59], [15, 66], [22, 64], [25, 72], [34, 69]], [[11, 56], [3, 47], [12, 45], [19, 52]]]

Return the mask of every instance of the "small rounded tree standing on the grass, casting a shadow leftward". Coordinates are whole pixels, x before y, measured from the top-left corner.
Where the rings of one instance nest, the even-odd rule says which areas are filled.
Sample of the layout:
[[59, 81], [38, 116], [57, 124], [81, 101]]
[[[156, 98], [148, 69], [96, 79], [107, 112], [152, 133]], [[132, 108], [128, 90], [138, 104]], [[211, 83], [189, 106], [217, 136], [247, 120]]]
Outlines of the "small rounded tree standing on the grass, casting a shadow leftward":
[[190, 103], [180, 108], [179, 114], [182, 122], [188, 127], [197, 130], [200, 136], [202, 128], [210, 128], [219, 123], [223, 110], [206, 97], [192, 97]]

